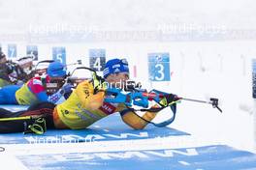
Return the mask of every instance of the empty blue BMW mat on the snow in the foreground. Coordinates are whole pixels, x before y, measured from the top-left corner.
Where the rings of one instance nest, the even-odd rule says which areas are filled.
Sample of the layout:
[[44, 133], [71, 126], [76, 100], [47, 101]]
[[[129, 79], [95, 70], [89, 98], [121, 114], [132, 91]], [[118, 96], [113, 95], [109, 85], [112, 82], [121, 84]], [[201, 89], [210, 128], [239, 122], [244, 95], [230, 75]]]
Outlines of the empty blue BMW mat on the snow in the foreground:
[[[255, 169], [256, 156], [225, 145], [163, 150], [16, 156], [34, 169], [224, 170]], [[35, 168], [36, 167], [36, 168]]]

